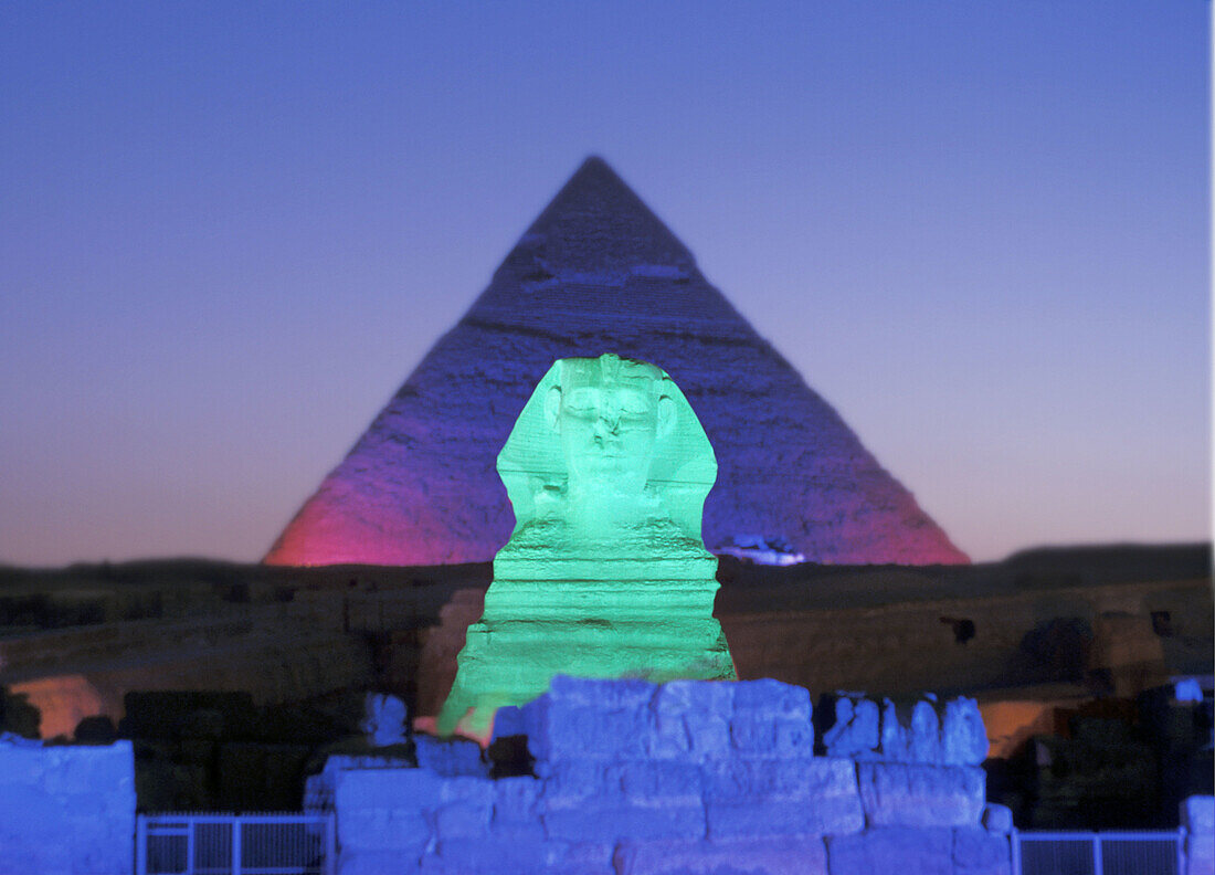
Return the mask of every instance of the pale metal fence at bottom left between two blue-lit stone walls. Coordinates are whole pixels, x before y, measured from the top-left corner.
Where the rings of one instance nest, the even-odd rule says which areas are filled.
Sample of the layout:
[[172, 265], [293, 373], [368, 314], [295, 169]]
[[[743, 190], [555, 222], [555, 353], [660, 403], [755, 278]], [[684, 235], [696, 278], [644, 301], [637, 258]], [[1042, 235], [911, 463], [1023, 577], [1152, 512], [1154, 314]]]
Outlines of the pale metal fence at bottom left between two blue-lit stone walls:
[[332, 875], [327, 814], [140, 814], [136, 875]]

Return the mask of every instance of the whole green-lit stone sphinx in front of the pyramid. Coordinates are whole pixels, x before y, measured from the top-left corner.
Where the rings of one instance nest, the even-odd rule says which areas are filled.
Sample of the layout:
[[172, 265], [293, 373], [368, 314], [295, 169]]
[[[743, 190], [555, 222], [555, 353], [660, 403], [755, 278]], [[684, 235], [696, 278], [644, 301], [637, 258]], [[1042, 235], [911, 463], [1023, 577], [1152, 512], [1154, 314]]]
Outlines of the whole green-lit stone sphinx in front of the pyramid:
[[735, 679], [700, 521], [717, 461], [688, 399], [646, 362], [561, 359], [498, 456], [515, 530], [468, 630], [441, 735], [554, 674]]

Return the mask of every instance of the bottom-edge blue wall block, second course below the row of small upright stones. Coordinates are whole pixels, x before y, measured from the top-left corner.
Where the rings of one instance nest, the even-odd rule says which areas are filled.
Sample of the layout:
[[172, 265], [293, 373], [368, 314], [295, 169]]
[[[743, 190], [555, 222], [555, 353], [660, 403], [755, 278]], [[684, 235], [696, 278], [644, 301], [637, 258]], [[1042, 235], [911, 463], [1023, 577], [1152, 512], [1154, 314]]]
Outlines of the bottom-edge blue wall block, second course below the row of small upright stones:
[[827, 837], [831, 875], [954, 875], [953, 831], [889, 826]]

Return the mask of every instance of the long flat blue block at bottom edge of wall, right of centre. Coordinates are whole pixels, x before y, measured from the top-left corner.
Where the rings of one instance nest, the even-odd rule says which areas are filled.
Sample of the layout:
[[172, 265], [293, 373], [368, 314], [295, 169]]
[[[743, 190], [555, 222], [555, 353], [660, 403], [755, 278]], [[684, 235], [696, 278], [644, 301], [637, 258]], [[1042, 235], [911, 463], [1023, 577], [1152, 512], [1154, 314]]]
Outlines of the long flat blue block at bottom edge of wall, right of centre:
[[625, 841], [614, 862], [618, 875], [827, 875], [826, 847], [819, 836]]

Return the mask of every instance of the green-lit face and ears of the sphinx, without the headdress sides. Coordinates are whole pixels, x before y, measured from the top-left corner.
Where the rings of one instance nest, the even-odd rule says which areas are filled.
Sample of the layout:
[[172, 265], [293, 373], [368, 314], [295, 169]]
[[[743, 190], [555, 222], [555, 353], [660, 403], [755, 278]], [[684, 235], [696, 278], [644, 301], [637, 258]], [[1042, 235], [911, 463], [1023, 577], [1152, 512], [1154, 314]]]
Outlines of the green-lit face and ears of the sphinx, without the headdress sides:
[[544, 418], [560, 436], [572, 495], [645, 491], [655, 445], [676, 425], [668, 383], [652, 365], [612, 354], [561, 362]]

